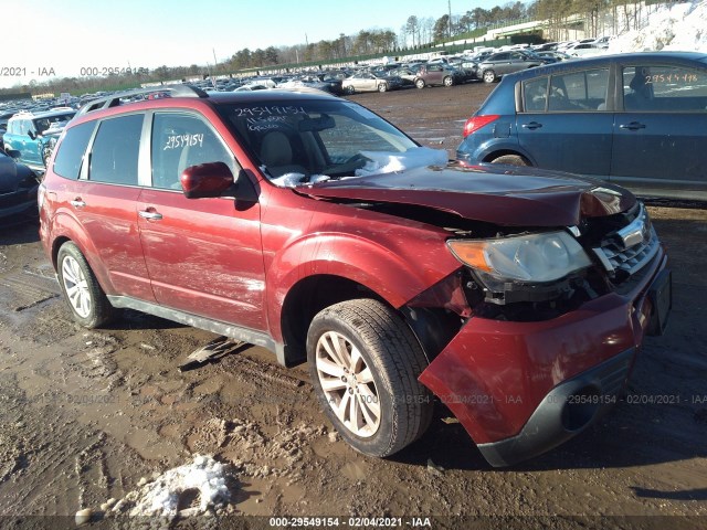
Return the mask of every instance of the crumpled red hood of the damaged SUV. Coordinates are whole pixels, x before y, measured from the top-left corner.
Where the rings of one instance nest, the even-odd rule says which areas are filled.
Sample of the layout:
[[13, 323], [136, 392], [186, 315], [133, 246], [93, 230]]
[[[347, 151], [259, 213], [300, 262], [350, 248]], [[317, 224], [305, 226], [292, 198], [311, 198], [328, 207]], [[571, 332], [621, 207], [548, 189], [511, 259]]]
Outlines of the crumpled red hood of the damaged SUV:
[[623, 188], [576, 174], [458, 162], [327, 181], [297, 191], [316, 199], [428, 206], [509, 226], [572, 226], [582, 218], [623, 212], [636, 201]]

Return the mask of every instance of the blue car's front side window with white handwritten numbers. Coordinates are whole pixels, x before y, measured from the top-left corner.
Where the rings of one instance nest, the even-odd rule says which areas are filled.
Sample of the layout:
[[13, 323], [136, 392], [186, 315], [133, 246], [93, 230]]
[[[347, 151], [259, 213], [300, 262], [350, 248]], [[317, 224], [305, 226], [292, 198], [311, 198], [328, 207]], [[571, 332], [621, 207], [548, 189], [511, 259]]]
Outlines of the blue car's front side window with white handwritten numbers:
[[626, 110], [707, 112], [707, 72], [678, 66], [623, 68]]

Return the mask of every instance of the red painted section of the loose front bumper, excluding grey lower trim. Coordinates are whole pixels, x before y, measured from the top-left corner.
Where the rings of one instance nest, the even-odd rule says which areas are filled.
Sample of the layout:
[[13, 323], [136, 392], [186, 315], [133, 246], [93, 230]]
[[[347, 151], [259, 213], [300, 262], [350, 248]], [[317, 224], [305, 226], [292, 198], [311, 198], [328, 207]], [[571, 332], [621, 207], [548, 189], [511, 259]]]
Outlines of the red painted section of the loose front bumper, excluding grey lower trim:
[[476, 444], [515, 436], [559, 383], [641, 346], [651, 314], [645, 290], [665, 264], [656, 259], [629, 296], [605, 295], [552, 320], [472, 318], [419, 380]]

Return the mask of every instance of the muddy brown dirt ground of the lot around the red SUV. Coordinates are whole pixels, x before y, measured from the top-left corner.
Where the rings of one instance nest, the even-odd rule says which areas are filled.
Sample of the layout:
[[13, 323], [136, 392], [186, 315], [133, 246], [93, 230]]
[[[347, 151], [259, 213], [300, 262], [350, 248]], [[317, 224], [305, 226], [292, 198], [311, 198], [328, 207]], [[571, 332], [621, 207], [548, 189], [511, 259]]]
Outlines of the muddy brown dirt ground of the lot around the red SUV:
[[[351, 99], [452, 155], [488, 91]], [[6, 229], [0, 527], [50, 521], [28, 516], [73, 526], [82, 508], [101, 519], [107, 499], [202, 454], [229, 465], [231, 500], [219, 515], [339, 516], [360, 528], [370, 524], [349, 516], [402, 517], [401, 526], [434, 517], [432, 528], [707, 528], [707, 210], [650, 211], [674, 271], [667, 333], [646, 340], [627, 399], [603, 422], [509, 469], [490, 468], [442, 405], [423, 438], [377, 460], [333, 434], [304, 365], [283, 369], [252, 347], [181, 373], [178, 363], [213, 335], [134, 311], [83, 329], [36, 225]]]

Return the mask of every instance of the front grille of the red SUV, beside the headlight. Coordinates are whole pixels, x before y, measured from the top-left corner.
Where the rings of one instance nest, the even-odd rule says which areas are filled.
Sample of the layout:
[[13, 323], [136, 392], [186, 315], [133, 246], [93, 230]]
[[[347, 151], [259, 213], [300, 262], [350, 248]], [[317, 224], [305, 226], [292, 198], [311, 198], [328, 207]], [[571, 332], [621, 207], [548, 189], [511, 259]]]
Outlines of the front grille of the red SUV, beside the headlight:
[[641, 212], [626, 226], [608, 234], [598, 248], [592, 248], [612, 275], [632, 276], [657, 254], [659, 243], [643, 204]]

